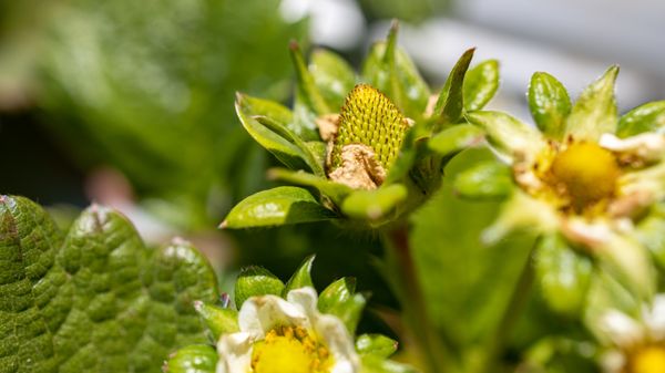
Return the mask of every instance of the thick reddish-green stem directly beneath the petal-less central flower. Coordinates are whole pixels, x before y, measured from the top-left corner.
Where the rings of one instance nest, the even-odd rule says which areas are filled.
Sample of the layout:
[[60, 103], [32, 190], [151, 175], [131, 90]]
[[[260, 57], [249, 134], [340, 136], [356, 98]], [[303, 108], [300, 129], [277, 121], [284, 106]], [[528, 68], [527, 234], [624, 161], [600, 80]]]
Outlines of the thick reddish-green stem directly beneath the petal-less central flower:
[[[400, 300], [402, 312], [416, 349], [422, 354], [428, 372], [444, 372], [450, 366], [450, 353], [430, 320], [422, 288], [409, 245], [409, 229], [400, 225], [383, 234], [387, 262], [398, 278], [387, 279]], [[390, 273], [388, 273], [390, 274]]]

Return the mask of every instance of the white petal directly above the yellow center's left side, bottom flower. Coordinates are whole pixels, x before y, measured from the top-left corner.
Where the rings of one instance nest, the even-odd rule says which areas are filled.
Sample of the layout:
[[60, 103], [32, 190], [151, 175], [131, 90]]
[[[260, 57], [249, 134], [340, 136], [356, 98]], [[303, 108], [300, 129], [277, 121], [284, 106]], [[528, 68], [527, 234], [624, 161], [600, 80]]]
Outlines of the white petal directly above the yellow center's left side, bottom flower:
[[311, 324], [301, 308], [277, 296], [252, 297], [243, 303], [238, 313], [241, 331], [264, 338], [265, 333], [277, 325], [297, 325], [311, 329]]

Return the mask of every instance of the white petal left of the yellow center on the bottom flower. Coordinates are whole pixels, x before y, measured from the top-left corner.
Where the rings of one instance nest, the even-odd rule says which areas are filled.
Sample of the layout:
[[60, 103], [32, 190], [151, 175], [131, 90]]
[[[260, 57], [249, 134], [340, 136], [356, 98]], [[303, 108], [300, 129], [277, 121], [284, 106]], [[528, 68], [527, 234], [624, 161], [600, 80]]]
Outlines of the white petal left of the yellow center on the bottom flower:
[[217, 343], [216, 373], [247, 373], [252, 365], [252, 345], [255, 339], [250, 333], [222, 335]]

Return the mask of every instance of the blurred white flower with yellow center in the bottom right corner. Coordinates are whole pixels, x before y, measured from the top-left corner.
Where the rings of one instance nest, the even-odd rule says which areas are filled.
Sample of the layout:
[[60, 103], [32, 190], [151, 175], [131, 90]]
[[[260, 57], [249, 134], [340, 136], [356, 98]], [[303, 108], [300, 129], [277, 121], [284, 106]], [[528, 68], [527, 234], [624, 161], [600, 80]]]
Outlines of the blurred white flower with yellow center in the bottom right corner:
[[665, 372], [665, 294], [658, 294], [641, 320], [610, 310], [600, 320], [610, 349], [602, 356], [606, 373]]

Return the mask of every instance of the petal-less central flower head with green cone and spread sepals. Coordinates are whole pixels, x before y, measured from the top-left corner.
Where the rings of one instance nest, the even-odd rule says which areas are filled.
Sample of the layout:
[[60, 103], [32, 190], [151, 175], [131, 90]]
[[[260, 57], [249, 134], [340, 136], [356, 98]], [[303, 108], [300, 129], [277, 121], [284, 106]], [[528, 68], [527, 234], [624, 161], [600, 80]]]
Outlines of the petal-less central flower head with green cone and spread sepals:
[[[432, 95], [397, 46], [397, 24], [371, 49], [358, 76], [339, 56], [317, 50], [297, 72], [294, 108], [238, 94], [247, 132], [288, 168], [283, 186], [247, 197], [222, 227], [246, 228], [334, 219], [376, 228], [403, 218], [439, 188], [446, 163], [480, 138], [464, 122], [498, 87], [498, 65], [469, 70], [473, 50]], [[313, 190], [315, 193], [313, 193]]]

